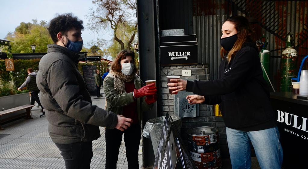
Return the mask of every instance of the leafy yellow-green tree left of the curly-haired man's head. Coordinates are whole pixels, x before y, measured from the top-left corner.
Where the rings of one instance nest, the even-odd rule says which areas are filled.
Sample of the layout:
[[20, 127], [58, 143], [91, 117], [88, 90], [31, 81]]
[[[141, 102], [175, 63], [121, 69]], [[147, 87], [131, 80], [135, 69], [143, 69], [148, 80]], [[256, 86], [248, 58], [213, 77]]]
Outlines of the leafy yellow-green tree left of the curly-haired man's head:
[[30, 45], [35, 44], [37, 53], [47, 52], [47, 44], [53, 43], [46, 27], [46, 21], [38, 24], [36, 19], [33, 23], [20, 23], [14, 33], [9, 32], [6, 36], [11, 44], [12, 53], [32, 53]]

